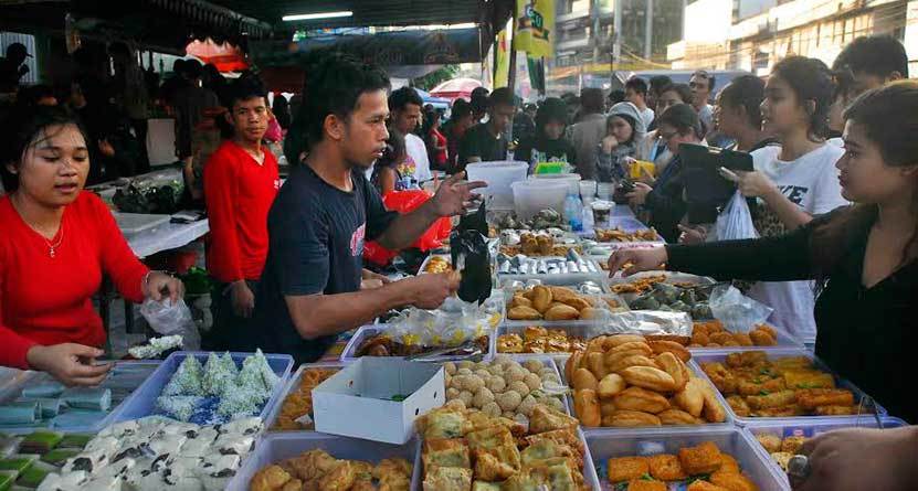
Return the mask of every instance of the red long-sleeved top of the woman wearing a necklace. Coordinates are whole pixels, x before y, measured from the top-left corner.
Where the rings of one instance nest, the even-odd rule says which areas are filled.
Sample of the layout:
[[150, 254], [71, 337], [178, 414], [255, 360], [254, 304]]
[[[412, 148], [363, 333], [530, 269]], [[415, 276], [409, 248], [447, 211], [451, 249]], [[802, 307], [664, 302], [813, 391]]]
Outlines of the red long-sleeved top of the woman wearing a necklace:
[[[0, 199], [0, 365], [28, 369], [35, 344], [105, 343], [102, 318], [92, 296], [107, 274], [118, 291], [144, 300], [148, 269], [134, 255], [112, 212], [83, 192], [64, 210], [57, 236], [46, 241]], [[49, 242], [60, 245], [51, 257]]]

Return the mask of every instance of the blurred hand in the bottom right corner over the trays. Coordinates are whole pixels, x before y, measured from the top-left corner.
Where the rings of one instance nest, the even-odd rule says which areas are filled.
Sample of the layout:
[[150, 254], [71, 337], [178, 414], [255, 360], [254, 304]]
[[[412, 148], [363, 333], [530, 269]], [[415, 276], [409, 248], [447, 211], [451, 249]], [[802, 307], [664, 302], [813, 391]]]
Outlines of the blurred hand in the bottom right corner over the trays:
[[822, 434], [803, 445], [810, 474], [792, 479], [794, 491], [898, 491], [916, 485], [915, 427], [848, 428]]

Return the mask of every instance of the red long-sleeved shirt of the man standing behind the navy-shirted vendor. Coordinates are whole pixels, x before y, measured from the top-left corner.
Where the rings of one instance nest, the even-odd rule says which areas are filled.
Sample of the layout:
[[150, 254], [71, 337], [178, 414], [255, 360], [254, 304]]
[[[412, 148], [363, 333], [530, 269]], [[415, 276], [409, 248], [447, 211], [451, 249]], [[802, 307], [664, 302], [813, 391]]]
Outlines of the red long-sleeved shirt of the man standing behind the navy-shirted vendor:
[[208, 270], [223, 282], [258, 279], [267, 258], [267, 212], [281, 178], [266, 148], [258, 163], [225, 140], [204, 166], [204, 200], [210, 220]]

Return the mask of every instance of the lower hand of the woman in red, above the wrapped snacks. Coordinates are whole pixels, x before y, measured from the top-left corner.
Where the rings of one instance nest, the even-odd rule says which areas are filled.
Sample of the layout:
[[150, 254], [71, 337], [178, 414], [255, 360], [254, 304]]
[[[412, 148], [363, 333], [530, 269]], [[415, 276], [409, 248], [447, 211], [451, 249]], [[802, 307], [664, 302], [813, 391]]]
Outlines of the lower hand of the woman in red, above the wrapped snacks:
[[48, 372], [64, 385], [98, 385], [112, 370], [110, 363], [94, 365], [95, 359], [104, 353], [83, 344], [35, 344], [29, 349], [25, 360], [32, 369]]

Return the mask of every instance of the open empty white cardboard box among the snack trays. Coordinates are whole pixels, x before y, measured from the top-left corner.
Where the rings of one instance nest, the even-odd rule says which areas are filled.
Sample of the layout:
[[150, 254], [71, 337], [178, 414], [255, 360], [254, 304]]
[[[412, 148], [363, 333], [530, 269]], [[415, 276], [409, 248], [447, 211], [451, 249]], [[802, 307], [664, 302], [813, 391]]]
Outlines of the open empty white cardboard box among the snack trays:
[[402, 445], [419, 416], [445, 404], [445, 392], [440, 365], [363, 356], [313, 389], [316, 431]]

